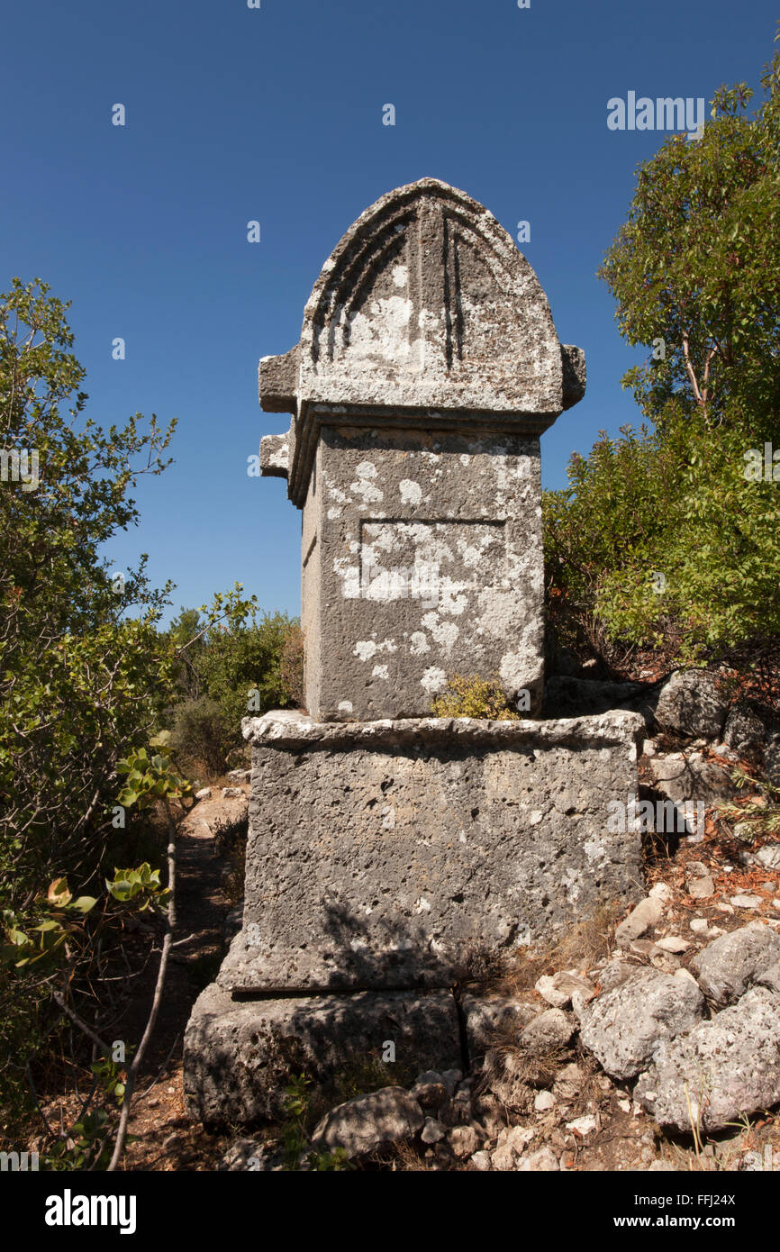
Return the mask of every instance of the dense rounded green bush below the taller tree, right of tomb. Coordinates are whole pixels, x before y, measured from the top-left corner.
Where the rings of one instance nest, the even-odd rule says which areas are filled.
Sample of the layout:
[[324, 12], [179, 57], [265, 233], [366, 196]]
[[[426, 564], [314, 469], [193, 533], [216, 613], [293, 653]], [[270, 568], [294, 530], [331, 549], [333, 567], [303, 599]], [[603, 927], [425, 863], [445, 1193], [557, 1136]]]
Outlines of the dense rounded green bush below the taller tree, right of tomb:
[[780, 634], [780, 497], [745, 477], [755, 429], [667, 413], [575, 456], [543, 501], [560, 642], [669, 646], [674, 660]]

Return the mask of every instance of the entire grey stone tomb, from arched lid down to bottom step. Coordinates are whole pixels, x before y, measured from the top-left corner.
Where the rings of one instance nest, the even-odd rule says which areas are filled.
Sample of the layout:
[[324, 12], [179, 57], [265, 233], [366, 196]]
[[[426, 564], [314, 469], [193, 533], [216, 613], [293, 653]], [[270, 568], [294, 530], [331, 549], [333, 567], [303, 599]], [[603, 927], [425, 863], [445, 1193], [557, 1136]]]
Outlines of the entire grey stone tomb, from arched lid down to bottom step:
[[[326, 262], [300, 342], [259, 367], [260, 444], [303, 513], [305, 710], [253, 745], [243, 928], [185, 1037], [190, 1113], [274, 1111], [391, 1042], [463, 1064], [458, 980], [636, 896], [639, 714], [540, 720], [540, 434], [585, 391], [536, 274], [434, 179], [383, 197]], [[456, 674], [525, 720], [431, 716]]]

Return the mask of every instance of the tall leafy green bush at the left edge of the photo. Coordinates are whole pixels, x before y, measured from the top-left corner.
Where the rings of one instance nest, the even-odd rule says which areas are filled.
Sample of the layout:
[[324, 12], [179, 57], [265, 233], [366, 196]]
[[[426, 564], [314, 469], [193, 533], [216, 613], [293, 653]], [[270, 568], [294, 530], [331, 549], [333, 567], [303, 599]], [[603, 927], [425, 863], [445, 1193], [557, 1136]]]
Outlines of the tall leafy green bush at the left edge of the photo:
[[[141, 431], [136, 413], [104, 431], [84, 418], [84, 371], [48, 292], [14, 279], [0, 295], [0, 909], [11, 945], [59, 934], [48, 889], [65, 875], [74, 894], [99, 894], [118, 761], [155, 729], [173, 660], [157, 631], [169, 588], [148, 586], [143, 561], [111, 572], [100, 551], [136, 521], [129, 492], [165, 468], [174, 423], [153, 417]], [[79, 945], [69, 960], [73, 995]], [[13, 963], [3, 980], [0, 1099], [15, 1107], [26, 1058], [56, 1034], [48, 977]]]

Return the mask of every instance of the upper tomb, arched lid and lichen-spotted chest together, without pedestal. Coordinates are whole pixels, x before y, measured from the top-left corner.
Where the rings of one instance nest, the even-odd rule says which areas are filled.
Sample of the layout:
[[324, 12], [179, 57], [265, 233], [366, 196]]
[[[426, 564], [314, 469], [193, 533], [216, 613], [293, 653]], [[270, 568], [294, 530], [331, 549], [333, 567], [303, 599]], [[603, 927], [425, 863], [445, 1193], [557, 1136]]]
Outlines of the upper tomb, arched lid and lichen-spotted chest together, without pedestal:
[[528, 262], [468, 195], [421, 179], [347, 230], [300, 342], [259, 366], [263, 408], [293, 414], [260, 468], [303, 510], [317, 717], [424, 716], [466, 665], [538, 711], [538, 438], [585, 382]]

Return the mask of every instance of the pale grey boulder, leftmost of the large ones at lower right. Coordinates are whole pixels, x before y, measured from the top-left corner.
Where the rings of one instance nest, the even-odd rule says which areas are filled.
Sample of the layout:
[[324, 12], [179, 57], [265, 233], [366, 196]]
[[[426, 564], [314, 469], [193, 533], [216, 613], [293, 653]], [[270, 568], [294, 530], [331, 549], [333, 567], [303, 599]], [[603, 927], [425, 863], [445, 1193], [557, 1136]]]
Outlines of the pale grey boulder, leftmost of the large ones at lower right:
[[690, 1030], [705, 1010], [692, 983], [644, 968], [580, 1013], [580, 1038], [613, 1078], [634, 1078], [662, 1043]]

